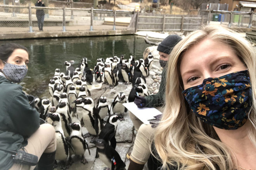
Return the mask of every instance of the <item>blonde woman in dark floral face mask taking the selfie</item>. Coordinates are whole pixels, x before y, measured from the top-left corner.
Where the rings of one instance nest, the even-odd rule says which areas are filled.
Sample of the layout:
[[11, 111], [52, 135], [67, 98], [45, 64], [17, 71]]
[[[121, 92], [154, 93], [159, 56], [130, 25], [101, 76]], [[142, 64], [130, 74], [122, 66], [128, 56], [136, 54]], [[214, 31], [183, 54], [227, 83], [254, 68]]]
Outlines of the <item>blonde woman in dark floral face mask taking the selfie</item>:
[[222, 27], [175, 46], [154, 138], [163, 169], [256, 169], [255, 71], [255, 49]]

